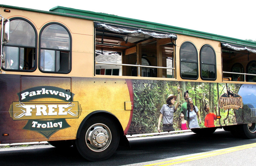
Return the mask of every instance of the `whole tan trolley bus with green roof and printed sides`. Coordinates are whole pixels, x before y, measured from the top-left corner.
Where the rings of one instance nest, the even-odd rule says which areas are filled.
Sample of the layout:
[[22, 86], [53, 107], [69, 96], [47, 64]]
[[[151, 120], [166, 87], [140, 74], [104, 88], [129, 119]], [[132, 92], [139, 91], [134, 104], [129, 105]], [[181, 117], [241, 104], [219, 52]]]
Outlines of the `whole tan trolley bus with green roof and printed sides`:
[[163, 126], [256, 137], [254, 42], [61, 6], [0, 15], [1, 144], [73, 145], [99, 161]]

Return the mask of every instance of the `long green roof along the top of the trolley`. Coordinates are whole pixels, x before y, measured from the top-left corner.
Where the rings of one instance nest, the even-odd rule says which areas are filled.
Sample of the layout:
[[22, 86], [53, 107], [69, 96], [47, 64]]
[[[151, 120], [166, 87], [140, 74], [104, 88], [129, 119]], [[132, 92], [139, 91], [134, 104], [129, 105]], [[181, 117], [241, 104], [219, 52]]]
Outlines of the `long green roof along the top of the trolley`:
[[225, 43], [231, 43], [231, 44], [256, 48], [256, 43], [252, 41], [246, 41], [246, 40], [241, 40], [241, 39], [236, 39], [236, 38], [231, 38], [231, 37], [226, 37], [226, 36], [221, 36], [216, 34], [210, 34], [210, 33], [205, 33], [201, 31], [180, 28], [180, 27], [170, 26], [165, 24], [159, 24], [159, 23], [154, 23], [149, 21], [142, 21], [138, 19], [130, 19], [130, 18], [120, 17], [120, 16], [106, 14], [106, 13], [85, 11], [85, 10], [73, 9], [68, 7], [62, 7], [62, 6], [53, 7], [52, 9], [50, 9], [50, 11], [41, 11], [41, 10], [34, 10], [34, 9], [21, 8], [21, 7], [9, 6], [9, 5], [1, 5], [1, 4], [0, 6], [4, 8], [14, 8], [19, 10], [62, 15], [65, 17], [88, 19], [92, 21], [104, 22], [109, 24], [118, 24], [118, 25], [131, 26], [131, 27], [143, 28], [148, 30], [162, 31], [162, 32], [172, 33], [172, 34], [183, 34], [188, 36], [194, 36], [194, 37], [199, 37], [204, 39], [210, 39], [210, 40], [215, 40], [215, 41], [220, 41]]

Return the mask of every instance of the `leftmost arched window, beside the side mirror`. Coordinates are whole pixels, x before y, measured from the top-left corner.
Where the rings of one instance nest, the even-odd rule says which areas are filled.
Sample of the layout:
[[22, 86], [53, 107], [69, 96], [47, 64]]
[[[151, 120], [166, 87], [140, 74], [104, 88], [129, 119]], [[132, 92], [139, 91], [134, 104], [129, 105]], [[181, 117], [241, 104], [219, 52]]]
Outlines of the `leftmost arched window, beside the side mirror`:
[[10, 19], [10, 39], [4, 44], [3, 69], [33, 72], [36, 69], [36, 28], [23, 18]]

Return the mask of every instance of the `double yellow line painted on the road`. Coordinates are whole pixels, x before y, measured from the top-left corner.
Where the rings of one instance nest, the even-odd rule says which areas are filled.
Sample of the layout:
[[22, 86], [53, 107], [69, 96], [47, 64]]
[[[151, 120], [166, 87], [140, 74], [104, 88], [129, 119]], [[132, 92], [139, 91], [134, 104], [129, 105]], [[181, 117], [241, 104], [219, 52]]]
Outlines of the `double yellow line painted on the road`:
[[173, 160], [158, 162], [158, 163], [154, 163], [154, 164], [148, 164], [148, 165], [144, 165], [144, 166], [174, 165], [174, 164], [179, 164], [182, 162], [189, 162], [189, 161], [204, 159], [204, 158], [208, 158], [208, 157], [212, 157], [212, 156], [223, 155], [223, 154], [227, 154], [227, 153], [231, 153], [231, 152], [235, 152], [238, 150], [243, 150], [243, 149], [247, 149], [247, 148], [251, 148], [251, 147], [256, 147], [256, 143], [237, 146], [237, 147], [230, 147], [230, 148], [226, 148], [226, 149], [212, 151], [209, 153], [203, 153], [203, 154], [199, 154], [199, 155], [193, 155], [193, 156], [183, 157], [183, 158], [179, 158], [179, 159], [173, 159]]

